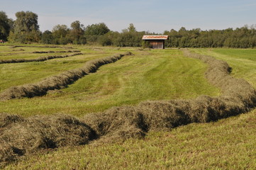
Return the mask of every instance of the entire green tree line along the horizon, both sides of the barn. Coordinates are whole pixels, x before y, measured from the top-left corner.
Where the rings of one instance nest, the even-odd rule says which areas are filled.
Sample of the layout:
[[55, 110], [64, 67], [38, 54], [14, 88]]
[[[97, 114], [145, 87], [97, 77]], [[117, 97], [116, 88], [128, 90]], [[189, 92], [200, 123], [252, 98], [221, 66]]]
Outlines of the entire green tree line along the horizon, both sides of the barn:
[[[39, 30], [38, 15], [31, 11], [16, 13], [16, 20], [8, 18], [4, 11], [0, 11], [0, 40], [19, 43], [44, 44], [76, 44], [103, 45], [117, 47], [146, 47], [141, 40], [143, 35], [155, 35], [145, 31], [137, 31], [133, 23], [121, 33], [110, 30], [105, 23], [95, 23], [84, 26], [80, 21], [74, 21], [70, 27], [57, 25], [52, 30]], [[200, 28], [187, 30], [165, 31], [169, 35], [166, 47], [234, 47], [248, 48], [256, 46], [256, 26], [242, 28], [227, 28], [225, 30], [201, 30]]]

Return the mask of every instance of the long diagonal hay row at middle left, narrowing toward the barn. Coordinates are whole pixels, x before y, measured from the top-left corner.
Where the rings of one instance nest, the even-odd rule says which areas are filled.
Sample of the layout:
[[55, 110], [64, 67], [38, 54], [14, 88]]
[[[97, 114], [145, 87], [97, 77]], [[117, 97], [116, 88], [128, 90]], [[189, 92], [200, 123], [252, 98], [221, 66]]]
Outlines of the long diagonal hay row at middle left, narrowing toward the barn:
[[126, 52], [126, 54], [123, 55], [114, 55], [112, 57], [91, 60], [87, 62], [84, 67], [72, 69], [56, 76], [48, 77], [35, 84], [12, 86], [0, 94], [0, 101], [9, 100], [12, 98], [32, 98], [34, 96], [43, 96], [47, 94], [49, 90], [65, 88], [68, 84], [72, 84], [74, 81], [77, 81], [77, 79], [84, 77], [84, 75], [91, 72], [96, 72], [101, 65], [116, 62], [124, 55], [131, 55], [131, 52]]

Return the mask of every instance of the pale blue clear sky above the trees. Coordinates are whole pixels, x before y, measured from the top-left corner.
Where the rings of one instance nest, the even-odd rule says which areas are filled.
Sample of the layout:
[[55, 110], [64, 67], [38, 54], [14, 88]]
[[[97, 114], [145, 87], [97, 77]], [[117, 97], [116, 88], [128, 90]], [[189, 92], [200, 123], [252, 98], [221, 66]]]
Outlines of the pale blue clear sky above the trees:
[[256, 0], [0, 0], [0, 11], [16, 19], [18, 11], [38, 15], [41, 31], [57, 24], [106, 23], [119, 31], [133, 23], [138, 31], [240, 28], [256, 24]]

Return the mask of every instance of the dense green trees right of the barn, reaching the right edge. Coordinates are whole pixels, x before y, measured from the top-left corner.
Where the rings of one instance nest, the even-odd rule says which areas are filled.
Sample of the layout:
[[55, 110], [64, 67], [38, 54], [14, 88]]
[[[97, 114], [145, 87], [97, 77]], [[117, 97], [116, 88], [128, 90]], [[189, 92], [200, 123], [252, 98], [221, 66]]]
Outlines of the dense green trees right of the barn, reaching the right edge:
[[165, 31], [165, 35], [169, 35], [167, 47], [256, 47], [255, 26], [244, 26], [235, 30], [186, 30], [182, 27], [179, 31]]

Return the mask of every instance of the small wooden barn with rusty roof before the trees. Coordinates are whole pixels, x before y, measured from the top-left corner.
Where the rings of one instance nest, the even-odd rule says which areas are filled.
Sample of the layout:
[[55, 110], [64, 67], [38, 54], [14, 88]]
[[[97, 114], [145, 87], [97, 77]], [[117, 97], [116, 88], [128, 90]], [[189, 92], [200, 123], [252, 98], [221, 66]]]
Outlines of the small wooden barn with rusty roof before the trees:
[[152, 48], [165, 49], [165, 40], [168, 40], [168, 35], [143, 35], [143, 40], [148, 41]]

